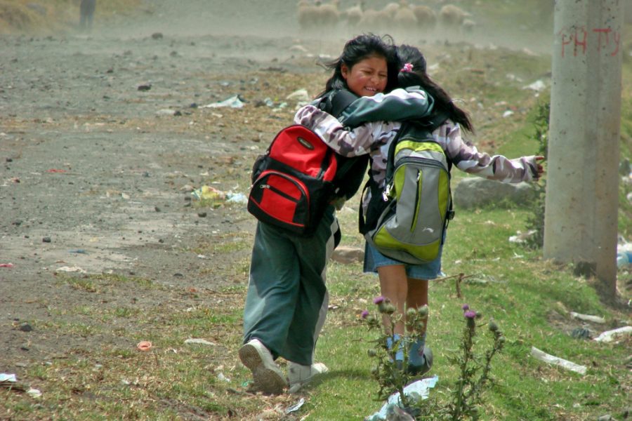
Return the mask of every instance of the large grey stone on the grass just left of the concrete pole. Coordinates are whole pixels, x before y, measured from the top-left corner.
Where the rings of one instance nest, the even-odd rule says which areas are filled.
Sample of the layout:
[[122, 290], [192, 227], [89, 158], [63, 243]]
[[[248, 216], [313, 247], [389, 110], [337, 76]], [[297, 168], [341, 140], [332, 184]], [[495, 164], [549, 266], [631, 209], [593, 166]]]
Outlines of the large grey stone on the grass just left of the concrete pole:
[[534, 197], [534, 189], [527, 182], [508, 184], [480, 177], [463, 178], [454, 189], [454, 203], [459, 208], [476, 208], [503, 201], [525, 205]]

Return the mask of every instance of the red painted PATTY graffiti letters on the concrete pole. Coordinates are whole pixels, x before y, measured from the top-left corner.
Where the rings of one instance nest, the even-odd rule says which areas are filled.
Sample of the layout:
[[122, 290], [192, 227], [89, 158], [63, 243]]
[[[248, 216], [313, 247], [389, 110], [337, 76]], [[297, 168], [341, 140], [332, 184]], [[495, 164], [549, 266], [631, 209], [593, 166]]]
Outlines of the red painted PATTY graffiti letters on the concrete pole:
[[[611, 36], [612, 35], [612, 36]], [[572, 48], [574, 57], [586, 55], [588, 48], [597, 48], [597, 51], [607, 51], [610, 55], [617, 55], [621, 46], [621, 32], [612, 28], [595, 28], [590, 31], [586, 27], [570, 27], [558, 32], [562, 57], [567, 54], [567, 49]], [[568, 51], [570, 53], [570, 51]]]

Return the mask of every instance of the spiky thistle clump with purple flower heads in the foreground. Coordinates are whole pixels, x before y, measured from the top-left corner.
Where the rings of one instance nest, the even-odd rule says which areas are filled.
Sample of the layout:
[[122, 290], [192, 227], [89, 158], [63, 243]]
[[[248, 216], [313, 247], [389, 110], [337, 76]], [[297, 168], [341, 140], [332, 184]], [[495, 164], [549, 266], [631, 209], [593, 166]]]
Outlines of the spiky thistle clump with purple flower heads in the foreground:
[[[449, 356], [449, 363], [458, 367], [459, 377], [454, 382], [454, 387], [449, 387], [448, 399], [427, 399], [414, 401], [404, 394], [404, 387], [417, 380], [415, 375], [410, 375], [406, 368], [409, 361], [407, 344], [421, 340], [428, 319], [428, 307], [419, 309], [406, 309], [404, 324], [409, 332], [404, 338], [394, 339], [393, 328], [402, 320], [404, 315], [395, 313], [395, 306], [388, 299], [378, 297], [374, 300], [378, 307], [379, 316], [362, 312], [362, 320], [369, 330], [378, 330], [380, 333], [374, 341], [374, 347], [368, 350], [369, 357], [376, 361], [371, 375], [377, 380], [380, 389], [378, 400], [388, 399], [390, 394], [399, 392], [400, 407], [402, 407], [415, 420], [478, 420], [478, 409], [484, 404], [483, 392], [492, 384], [491, 377], [492, 359], [503, 348], [505, 338], [496, 322], [490, 320], [483, 323], [480, 313], [463, 305], [463, 333], [459, 351], [454, 356]], [[492, 335], [492, 347], [484, 354], [474, 352], [475, 337], [481, 326], [487, 325], [489, 334]], [[390, 346], [389, 346], [390, 344]], [[397, 352], [402, 352], [403, 360], [397, 359]]]

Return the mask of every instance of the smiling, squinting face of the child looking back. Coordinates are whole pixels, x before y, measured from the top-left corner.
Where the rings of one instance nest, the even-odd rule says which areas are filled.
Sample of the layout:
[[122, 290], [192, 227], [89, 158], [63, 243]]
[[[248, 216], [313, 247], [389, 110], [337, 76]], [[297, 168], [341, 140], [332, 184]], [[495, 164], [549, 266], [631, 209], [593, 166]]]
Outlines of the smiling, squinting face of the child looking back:
[[351, 68], [343, 63], [341, 73], [349, 91], [360, 96], [373, 96], [383, 92], [388, 82], [386, 58], [371, 55], [355, 63]]

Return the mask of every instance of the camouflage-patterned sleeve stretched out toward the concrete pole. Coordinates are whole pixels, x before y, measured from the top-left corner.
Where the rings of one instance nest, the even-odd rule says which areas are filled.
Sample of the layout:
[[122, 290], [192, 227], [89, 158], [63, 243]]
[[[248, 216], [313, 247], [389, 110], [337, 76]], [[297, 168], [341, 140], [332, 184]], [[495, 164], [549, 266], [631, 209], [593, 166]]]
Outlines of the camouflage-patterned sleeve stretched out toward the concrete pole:
[[463, 140], [460, 126], [452, 121], [438, 128], [434, 134], [444, 147], [449, 159], [466, 173], [488, 180], [515, 183], [538, 180], [544, 172], [538, 163], [542, 159], [541, 156], [508, 159], [502, 155], [491, 156], [485, 152], [479, 152], [474, 145]]

